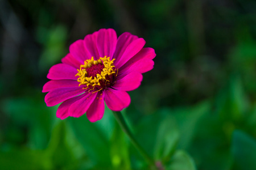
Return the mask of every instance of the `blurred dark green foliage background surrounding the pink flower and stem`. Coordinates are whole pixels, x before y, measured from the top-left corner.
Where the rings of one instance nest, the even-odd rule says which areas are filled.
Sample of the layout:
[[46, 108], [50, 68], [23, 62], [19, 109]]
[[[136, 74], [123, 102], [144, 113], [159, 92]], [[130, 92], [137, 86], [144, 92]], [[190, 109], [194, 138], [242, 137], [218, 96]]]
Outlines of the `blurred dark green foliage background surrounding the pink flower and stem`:
[[256, 169], [256, 1], [0, 0], [0, 169], [148, 169], [106, 109], [56, 118], [42, 87], [100, 28], [155, 49], [124, 114], [166, 169]]

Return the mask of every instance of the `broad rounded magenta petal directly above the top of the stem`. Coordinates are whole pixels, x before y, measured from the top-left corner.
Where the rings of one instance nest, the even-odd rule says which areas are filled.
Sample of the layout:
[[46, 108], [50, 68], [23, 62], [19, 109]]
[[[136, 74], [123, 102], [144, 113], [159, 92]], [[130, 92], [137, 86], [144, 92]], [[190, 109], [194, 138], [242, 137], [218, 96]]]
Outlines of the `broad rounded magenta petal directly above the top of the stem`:
[[131, 98], [125, 91], [108, 88], [104, 92], [106, 105], [112, 111], [122, 111], [123, 108], [128, 107], [131, 103]]

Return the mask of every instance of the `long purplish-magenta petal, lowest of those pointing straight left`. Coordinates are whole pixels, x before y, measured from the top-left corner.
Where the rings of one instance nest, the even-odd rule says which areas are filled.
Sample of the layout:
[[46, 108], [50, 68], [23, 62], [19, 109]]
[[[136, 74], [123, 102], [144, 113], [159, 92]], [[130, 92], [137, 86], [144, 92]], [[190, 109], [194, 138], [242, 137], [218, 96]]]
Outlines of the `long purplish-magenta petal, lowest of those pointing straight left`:
[[48, 92], [44, 101], [46, 101], [48, 107], [52, 107], [53, 105], [80, 95], [82, 92], [84, 92], [84, 89], [81, 87], [57, 88], [56, 90]]

